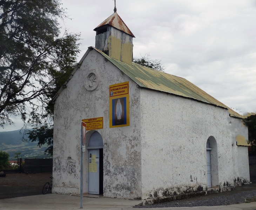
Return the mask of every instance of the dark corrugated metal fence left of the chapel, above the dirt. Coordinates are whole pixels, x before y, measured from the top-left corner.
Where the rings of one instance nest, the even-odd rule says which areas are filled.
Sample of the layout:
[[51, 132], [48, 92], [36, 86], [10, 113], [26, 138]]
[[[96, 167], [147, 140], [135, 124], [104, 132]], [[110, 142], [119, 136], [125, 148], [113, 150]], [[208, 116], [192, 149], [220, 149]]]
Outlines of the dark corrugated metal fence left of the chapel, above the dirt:
[[53, 159], [25, 159], [25, 173], [52, 172]]

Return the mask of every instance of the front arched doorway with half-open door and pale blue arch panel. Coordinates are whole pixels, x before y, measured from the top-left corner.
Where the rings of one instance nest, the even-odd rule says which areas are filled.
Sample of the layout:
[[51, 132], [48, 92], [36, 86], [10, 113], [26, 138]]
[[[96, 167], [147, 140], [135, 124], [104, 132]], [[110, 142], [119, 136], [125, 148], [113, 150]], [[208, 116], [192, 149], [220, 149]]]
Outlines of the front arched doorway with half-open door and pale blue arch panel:
[[89, 139], [88, 157], [88, 193], [103, 194], [103, 139], [95, 131]]

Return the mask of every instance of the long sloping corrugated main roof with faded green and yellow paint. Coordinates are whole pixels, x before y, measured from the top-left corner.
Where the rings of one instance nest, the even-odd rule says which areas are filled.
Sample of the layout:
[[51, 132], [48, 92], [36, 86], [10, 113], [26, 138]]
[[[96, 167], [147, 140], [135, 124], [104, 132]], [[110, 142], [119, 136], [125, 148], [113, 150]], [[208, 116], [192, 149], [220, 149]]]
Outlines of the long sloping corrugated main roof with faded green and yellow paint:
[[189, 82], [187, 79], [170, 75], [161, 71], [156, 71], [136, 63], [129, 65], [107, 56], [105, 53], [96, 48], [94, 49], [100, 52], [101, 55], [106, 57], [111, 63], [113, 63], [117, 68], [119, 68], [123, 73], [125, 73], [129, 78], [131, 78], [141, 87], [171, 93], [177, 96], [195, 99], [199, 102], [220, 106], [228, 109], [230, 116], [243, 118], [242, 115], [230, 109], [225, 104], [219, 102], [217, 99], [210, 96], [202, 89]]

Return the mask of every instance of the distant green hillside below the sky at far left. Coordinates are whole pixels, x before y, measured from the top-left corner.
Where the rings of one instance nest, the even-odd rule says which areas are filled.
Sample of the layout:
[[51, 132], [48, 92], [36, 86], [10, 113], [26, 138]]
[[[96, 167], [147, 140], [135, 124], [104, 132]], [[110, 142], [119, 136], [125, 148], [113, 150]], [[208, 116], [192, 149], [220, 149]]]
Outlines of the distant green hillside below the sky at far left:
[[37, 146], [37, 142], [23, 142], [21, 139], [24, 135], [28, 139], [27, 134], [23, 134], [23, 130], [0, 132], [0, 151], [9, 153], [9, 160], [16, 160], [14, 158], [15, 152], [21, 153], [21, 158], [46, 158], [50, 157], [45, 155], [46, 145], [43, 147]]

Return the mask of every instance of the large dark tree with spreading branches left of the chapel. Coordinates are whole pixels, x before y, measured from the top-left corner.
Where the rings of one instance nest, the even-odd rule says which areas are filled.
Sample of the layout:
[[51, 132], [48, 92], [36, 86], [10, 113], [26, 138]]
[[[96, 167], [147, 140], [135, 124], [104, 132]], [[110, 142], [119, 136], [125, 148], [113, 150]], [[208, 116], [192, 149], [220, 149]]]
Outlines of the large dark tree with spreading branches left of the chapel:
[[49, 100], [76, 65], [79, 35], [60, 28], [59, 0], [0, 0], [0, 126], [51, 127]]

